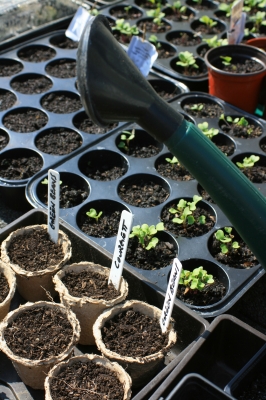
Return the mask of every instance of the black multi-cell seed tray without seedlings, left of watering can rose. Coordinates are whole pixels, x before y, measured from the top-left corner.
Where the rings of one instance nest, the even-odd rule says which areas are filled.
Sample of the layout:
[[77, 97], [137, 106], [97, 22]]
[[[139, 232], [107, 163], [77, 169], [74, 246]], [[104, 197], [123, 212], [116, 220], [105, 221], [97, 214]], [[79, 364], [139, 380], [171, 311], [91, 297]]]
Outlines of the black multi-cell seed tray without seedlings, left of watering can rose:
[[[67, 20], [66, 27], [69, 25], [69, 20]], [[112, 134], [117, 130], [117, 127], [120, 127], [124, 124], [116, 124], [117, 127], [109, 126], [105, 128], [105, 130], [98, 134], [93, 129], [92, 133], [87, 133], [89, 128], [87, 126], [85, 128], [82, 127], [81, 122], [86, 119], [86, 114], [84, 108], [82, 107], [79, 92], [77, 90], [77, 78], [76, 76], [70, 78], [58, 78], [52, 75], [51, 72], [47, 72], [46, 68], [53, 66], [56, 63], [61, 62], [60, 60], [71, 61], [74, 65], [76, 62], [77, 49], [76, 48], [62, 48], [59, 47], [58, 43], [64, 37], [65, 30], [56, 30], [53, 31], [53, 25], [49, 27], [44, 34], [39, 35], [38, 37], [31, 38], [30, 40], [21, 41], [18, 45], [14, 45], [13, 47], [10, 45], [8, 49], [4, 49], [1, 51], [0, 47], [0, 67], [5, 65], [5, 60], [8, 62], [14, 62], [15, 64], [20, 66], [20, 71], [14, 73], [11, 76], [1, 76], [0, 74], [0, 100], [2, 101], [2, 96], [6, 93], [9, 93], [10, 96], [14, 97], [14, 104], [8, 109], [4, 106], [0, 105], [0, 139], [3, 136], [7, 137], [8, 143], [4, 146], [0, 141], [0, 162], [5, 157], [21, 157], [23, 155], [31, 155], [36, 156], [40, 159], [42, 165], [42, 170], [47, 170], [51, 165], [58, 165], [63, 160], [67, 160], [73, 156], [73, 154], [78, 154], [80, 151], [83, 151], [87, 147], [89, 147], [93, 143], [97, 143], [102, 140], [103, 137], [107, 137], [109, 134]], [[42, 30], [43, 32], [43, 30]], [[73, 42], [72, 42], [73, 43]], [[43, 62], [29, 62], [24, 61], [23, 51], [24, 49], [46, 49], [51, 51], [53, 54], [51, 57]], [[22, 58], [21, 58], [22, 57]], [[71, 65], [66, 66], [67, 68], [74, 68]], [[75, 75], [75, 73], [74, 73]], [[49, 79], [50, 84], [52, 85], [48, 90], [39, 94], [23, 94], [15, 90], [12, 85], [14, 82], [20, 81], [21, 79], [32, 79], [36, 77], [42, 77]], [[177, 82], [175, 79], [169, 79], [167, 77], [164, 78], [162, 74], [157, 74], [153, 72], [149, 75], [149, 79], [158, 80], [166, 82], [169, 86], [172, 86], [172, 91], [175, 91], [176, 94], [184, 93], [188, 91], [188, 88]], [[156, 82], [155, 82], [156, 83]], [[40, 90], [42, 87], [40, 85]], [[72, 102], [76, 101], [78, 106], [76, 110], [72, 110], [67, 113], [56, 113], [53, 110], [48, 111], [45, 104], [43, 104], [43, 99], [46, 96], [57, 96], [57, 95], [67, 95], [69, 97], [69, 105], [72, 106]], [[60, 98], [58, 98], [58, 103], [60, 103]], [[20, 113], [28, 110], [32, 110], [35, 112], [41, 112], [41, 118], [44, 118], [45, 121], [42, 124], [38, 124], [39, 116], [36, 117], [36, 125], [30, 128], [30, 132], [26, 133], [26, 128], [16, 128], [11, 125], [8, 125], [5, 122], [5, 118], [8, 115], [12, 115], [12, 113]], [[43, 125], [43, 126], [42, 126]], [[78, 141], [81, 141], [81, 146], [76, 148], [73, 152], [69, 154], [63, 155], [52, 155], [41, 151], [36, 146], [36, 140], [41, 137], [43, 134], [47, 133], [50, 130], [56, 130], [58, 128], [63, 128], [63, 130], [70, 130], [74, 132], [78, 136]], [[15, 131], [16, 129], [16, 131]], [[83, 129], [83, 130], [82, 130]], [[87, 132], [86, 132], [87, 129]], [[98, 129], [98, 127], [97, 127]], [[119, 129], [119, 128], [118, 128]], [[2, 195], [6, 198], [9, 205], [14, 205], [14, 207], [27, 208], [27, 204], [25, 203], [25, 186], [28, 182], [28, 178], [22, 178], [17, 180], [9, 180], [0, 177], [0, 191]], [[20, 201], [18, 201], [18, 196]]]

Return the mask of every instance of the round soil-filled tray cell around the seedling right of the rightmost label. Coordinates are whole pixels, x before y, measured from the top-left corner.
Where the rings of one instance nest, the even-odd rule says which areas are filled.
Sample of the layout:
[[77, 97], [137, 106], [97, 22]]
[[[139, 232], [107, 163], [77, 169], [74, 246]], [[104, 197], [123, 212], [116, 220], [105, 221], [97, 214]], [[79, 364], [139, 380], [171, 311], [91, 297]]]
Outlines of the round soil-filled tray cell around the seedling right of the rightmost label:
[[191, 258], [182, 261], [182, 267], [183, 270], [188, 271], [203, 267], [203, 270], [207, 271], [208, 275], [212, 275], [214, 279], [214, 283], [206, 284], [202, 291], [190, 289], [186, 292], [187, 287], [179, 285], [177, 298], [186, 306], [199, 312], [208, 312], [213, 306], [219, 306], [226, 299], [230, 290], [230, 282], [228, 274], [221, 266], [209, 260]]

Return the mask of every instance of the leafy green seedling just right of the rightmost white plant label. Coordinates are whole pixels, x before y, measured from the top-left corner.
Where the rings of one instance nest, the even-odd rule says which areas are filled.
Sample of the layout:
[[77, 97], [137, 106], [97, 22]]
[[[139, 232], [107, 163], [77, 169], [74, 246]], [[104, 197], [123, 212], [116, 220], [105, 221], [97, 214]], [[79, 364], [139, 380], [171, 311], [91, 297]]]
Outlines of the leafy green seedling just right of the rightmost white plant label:
[[206, 285], [211, 285], [212, 283], [214, 283], [213, 276], [208, 274], [203, 267], [195, 268], [193, 271], [185, 269], [181, 271], [179, 285], [186, 286], [184, 294], [191, 290], [202, 291]]

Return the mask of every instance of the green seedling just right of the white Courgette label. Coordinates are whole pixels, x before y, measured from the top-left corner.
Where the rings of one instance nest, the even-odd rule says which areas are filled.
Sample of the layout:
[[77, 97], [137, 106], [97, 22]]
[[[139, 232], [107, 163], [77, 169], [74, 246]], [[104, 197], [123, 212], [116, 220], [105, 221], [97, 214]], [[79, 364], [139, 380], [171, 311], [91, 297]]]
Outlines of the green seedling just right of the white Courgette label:
[[133, 226], [132, 232], [130, 233], [129, 237], [137, 237], [141, 246], [146, 249], [150, 250], [155, 248], [159, 242], [159, 239], [155, 237], [157, 232], [164, 230], [163, 222], [159, 222], [156, 226], [155, 225], [136, 225]]

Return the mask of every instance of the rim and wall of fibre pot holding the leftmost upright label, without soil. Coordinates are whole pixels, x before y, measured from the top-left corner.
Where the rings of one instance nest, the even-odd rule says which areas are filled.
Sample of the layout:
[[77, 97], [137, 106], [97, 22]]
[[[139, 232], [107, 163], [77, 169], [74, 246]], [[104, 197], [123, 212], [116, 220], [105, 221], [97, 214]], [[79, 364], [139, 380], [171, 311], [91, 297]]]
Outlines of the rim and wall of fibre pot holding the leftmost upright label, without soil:
[[[32, 233], [33, 231], [47, 231], [47, 225], [33, 225], [18, 229], [12, 233], [2, 242], [1, 245], [1, 258], [2, 261], [8, 265], [16, 274], [17, 288], [21, 296], [28, 301], [39, 301], [47, 300], [47, 293], [50, 296], [55, 296], [56, 292], [52, 281], [53, 275], [70, 259], [72, 250], [71, 242], [67, 235], [59, 230], [58, 244], [61, 246], [63, 251], [63, 258], [56, 265], [50, 265], [43, 270], [28, 271], [18, 264], [11, 261], [9, 256], [9, 247], [12, 240], [15, 238]], [[52, 243], [52, 242], [51, 242]], [[24, 253], [24, 257], [27, 256], [27, 251]]]

